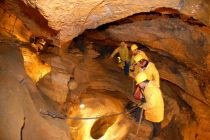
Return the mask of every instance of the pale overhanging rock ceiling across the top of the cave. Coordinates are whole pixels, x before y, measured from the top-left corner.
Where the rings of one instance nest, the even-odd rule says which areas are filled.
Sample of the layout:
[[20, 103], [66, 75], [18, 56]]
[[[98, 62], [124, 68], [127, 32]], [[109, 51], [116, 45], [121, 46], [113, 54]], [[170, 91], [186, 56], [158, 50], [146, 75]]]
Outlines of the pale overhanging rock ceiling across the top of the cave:
[[[22, 17], [22, 20], [34, 33], [53, 39], [58, 45], [68, 42], [85, 29], [159, 7], [177, 9], [205, 24], [209, 24], [210, 13], [209, 2], [205, 0], [19, 0], [17, 3], [7, 0], [5, 5], [6, 9], [19, 16], [25, 13], [31, 17]], [[49, 34], [38, 31], [38, 28]]]

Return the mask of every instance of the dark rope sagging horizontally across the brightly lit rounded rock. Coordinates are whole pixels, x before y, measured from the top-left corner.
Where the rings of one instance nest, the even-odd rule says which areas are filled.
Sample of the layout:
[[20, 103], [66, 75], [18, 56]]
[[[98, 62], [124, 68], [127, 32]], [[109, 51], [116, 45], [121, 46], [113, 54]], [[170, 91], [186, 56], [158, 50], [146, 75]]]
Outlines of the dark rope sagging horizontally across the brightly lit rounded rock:
[[40, 109], [40, 113], [42, 115], [47, 115], [47, 116], [51, 116], [52, 118], [58, 118], [58, 119], [71, 119], [71, 120], [93, 120], [93, 119], [100, 119], [100, 118], [108, 118], [108, 117], [114, 117], [114, 116], [118, 116], [118, 115], [123, 115], [123, 114], [130, 114], [132, 113], [135, 109], [138, 108], [139, 105], [133, 107], [132, 109], [130, 109], [129, 111], [123, 111], [123, 112], [119, 112], [119, 113], [113, 113], [110, 115], [103, 115], [103, 116], [96, 116], [96, 117], [67, 117], [63, 114], [58, 114], [56, 112], [50, 112], [44, 109]]

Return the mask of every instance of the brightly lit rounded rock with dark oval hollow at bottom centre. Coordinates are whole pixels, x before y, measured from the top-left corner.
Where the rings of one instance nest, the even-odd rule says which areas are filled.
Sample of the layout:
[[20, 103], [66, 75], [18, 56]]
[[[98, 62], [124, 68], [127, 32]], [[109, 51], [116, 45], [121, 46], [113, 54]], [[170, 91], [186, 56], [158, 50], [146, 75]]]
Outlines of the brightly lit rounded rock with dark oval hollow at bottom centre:
[[[121, 115], [113, 115], [124, 112], [122, 102], [117, 98], [100, 94], [97, 90], [95, 93], [91, 92], [88, 92], [81, 99], [84, 107], [79, 108], [79, 105], [74, 105], [69, 110], [69, 117], [93, 118], [76, 121], [72, 119], [67, 120], [73, 139], [119, 140], [124, 138], [130, 127], [128, 117], [123, 113]], [[95, 117], [109, 115], [113, 116], [94, 119]]]

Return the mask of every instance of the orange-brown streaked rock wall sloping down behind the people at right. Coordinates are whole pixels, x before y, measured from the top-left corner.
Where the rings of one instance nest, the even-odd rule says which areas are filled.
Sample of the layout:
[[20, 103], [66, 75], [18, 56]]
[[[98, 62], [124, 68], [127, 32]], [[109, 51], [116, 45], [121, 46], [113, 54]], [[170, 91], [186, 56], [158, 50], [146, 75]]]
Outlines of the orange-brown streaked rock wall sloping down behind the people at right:
[[[147, 19], [145, 19], [146, 17]], [[136, 15], [107, 26], [104, 31], [90, 31], [85, 35], [92, 41], [120, 41], [141, 43], [155, 62], [161, 79], [179, 86], [179, 96], [192, 107], [198, 123], [197, 139], [209, 136], [209, 52], [210, 32], [206, 26], [189, 25], [180, 18]], [[199, 106], [199, 107], [198, 107]], [[205, 130], [204, 130], [205, 129]], [[187, 137], [184, 137], [188, 139]]]

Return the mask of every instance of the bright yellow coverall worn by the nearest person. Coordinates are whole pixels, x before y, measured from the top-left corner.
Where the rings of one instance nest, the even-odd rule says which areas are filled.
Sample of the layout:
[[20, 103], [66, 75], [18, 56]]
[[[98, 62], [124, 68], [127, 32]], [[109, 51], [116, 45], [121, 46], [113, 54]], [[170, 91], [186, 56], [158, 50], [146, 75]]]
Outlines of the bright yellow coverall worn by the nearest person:
[[161, 90], [150, 81], [145, 87], [143, 95], [146, 103], [142, 105], [145, 110], [145, 119], [151, 122], [161, 122], [164, 118], [164, 102]]

